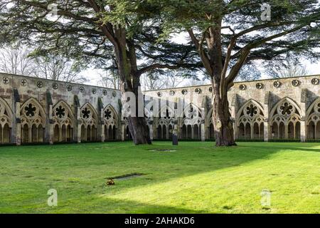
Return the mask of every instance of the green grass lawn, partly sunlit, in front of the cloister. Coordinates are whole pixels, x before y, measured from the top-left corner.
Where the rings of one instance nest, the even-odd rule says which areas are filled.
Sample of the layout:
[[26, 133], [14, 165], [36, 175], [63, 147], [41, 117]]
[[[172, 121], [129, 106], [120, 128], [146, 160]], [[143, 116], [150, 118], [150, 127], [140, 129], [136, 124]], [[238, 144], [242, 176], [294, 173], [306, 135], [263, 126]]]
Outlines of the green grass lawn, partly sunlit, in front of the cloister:
[[[176, 152], [155, 152], [172, 149]], [[114, 180], [107, 177], [142, 173]], [[58, 207], [47, 192], [58, 191]], [[261, 192], [270, 190], [271, 206]], [[0, 213], [319, 213], [317, 143], [0, 147]]]

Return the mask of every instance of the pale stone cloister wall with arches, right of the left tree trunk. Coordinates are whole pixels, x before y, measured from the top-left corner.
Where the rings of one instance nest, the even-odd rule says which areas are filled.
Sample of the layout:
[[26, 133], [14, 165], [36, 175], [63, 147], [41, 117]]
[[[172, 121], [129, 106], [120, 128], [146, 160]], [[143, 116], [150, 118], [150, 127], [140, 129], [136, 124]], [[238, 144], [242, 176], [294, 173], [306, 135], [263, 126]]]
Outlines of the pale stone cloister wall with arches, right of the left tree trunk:
[[[235, 138], [302, 142], [320, 139], [319, 80], [320, 76], [306, 76], [235, 83], [228, 93]], [[169, 98], [168, 103], [183, 104], [185, 114], [192, 106], [191, 112], [196, 110], [199, 119], [198, 123], [190, 124], [186, 115], [178, 118], [160, 115], [151, 121], [152, 137], [170, 138], [168, 131], [176, 129], [179, 138], [213, 139], [210, 89], [193, 86], [146, 91], [147, 99]]]

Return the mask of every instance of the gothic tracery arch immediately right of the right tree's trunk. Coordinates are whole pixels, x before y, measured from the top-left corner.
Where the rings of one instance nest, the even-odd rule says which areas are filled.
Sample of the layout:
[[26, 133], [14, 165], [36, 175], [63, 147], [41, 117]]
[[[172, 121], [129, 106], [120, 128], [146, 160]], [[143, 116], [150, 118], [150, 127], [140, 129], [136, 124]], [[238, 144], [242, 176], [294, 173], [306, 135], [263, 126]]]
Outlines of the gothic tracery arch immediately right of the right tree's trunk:
[[250, 99], [239, 109], [235, 121], [238, 139], [263, 139], [264, 109], [257, 101]]

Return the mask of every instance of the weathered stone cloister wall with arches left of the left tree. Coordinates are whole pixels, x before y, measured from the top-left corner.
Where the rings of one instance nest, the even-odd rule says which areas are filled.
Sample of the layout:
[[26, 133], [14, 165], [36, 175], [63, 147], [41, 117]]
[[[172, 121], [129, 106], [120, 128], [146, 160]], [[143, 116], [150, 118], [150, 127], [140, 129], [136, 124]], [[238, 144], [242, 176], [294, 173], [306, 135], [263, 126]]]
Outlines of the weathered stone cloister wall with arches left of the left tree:
[[119, 139], [119, 98], [110, 88], [0, 73], [1, 130], [10, 128], [1, 142]]

